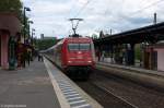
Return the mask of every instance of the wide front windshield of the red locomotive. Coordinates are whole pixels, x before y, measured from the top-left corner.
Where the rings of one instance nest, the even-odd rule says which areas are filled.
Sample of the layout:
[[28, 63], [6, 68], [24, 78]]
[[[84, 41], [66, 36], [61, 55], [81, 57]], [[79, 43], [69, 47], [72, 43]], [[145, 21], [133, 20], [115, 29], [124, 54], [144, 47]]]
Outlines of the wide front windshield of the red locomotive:
[[90, 50], [91, 45], [90, 44], [69, 44], [68, 48], [69, 50]]

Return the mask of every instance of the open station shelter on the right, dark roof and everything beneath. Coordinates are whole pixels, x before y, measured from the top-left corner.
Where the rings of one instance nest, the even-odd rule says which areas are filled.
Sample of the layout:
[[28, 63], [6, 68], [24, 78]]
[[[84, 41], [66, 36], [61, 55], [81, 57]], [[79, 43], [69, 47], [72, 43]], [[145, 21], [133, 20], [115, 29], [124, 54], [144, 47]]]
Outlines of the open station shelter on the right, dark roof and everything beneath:
[[[97, 53], [107, 52], [109, 63], [164, 71], [164, 22], [94, 40]], [[101, 55], [97, 55], [101, 57]], [[103, 57], [103, 56], [102, 56]]]

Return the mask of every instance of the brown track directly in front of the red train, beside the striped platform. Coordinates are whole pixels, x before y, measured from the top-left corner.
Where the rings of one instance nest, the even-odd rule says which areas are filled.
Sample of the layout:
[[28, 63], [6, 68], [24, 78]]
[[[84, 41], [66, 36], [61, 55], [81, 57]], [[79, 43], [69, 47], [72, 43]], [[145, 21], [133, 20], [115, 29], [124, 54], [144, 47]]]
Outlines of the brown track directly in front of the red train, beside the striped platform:
[[136, 108], [93, 83], [78, 82], [77, 84], [96, 99], [104, 108]]

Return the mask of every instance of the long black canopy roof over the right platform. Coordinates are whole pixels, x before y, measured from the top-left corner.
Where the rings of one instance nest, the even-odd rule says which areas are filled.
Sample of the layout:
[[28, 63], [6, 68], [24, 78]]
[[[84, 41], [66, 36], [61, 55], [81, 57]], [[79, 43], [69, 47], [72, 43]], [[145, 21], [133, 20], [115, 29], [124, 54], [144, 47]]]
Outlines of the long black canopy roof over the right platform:
[[139, 43], [157, 43], [164, 40], [164, 22], [122, 32], [115, 35], [106, 35], [103, 38], [94, 40], [95, 45], [104, 44], [139, 44]]

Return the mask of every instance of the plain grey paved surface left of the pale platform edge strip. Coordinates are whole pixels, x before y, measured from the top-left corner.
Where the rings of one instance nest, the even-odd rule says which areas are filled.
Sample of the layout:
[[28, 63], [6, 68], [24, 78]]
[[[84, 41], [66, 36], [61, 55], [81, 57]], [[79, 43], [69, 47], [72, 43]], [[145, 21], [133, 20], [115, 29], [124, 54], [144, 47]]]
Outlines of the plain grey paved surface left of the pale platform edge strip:
[[60, 108], [44, 62], [0, 70], [0, 108]]

